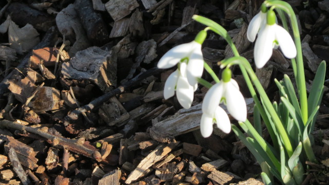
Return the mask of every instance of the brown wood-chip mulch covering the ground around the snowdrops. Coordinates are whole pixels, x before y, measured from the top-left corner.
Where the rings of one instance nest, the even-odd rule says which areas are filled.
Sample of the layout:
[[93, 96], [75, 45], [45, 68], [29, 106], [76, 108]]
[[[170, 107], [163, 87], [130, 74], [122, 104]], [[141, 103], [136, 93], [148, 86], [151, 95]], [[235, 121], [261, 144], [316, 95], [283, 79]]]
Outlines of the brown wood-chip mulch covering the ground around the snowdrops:
[[[175, 68], [156, 68], [170, 48], [204, 28], [193, 14], [225, 27], [254, 67], [246, 30], [261, 3], [0, 2], [0, 184], [263, 184], [260, 165], [233, 132], [214, 125], [210, 137], [201, 136], [200, 102], [208, 89], [199, 85], [192, 107], [183, 109], [176, 97], [163, 98]], [[329, 60], [329, 1], [288, 3], [300, 22], [310, 88], [319, 63]], [[233, 55], [210, 31], [203, 54], [218, 77], [217, 62]], [[252, 120], [241, 71], [232, 71]], [[294, 81], [280, 50], [255, 71], [273, 101], [280, 99], [275, 78], [286, 73]], [[203, 78], [212, 81], [206, 72]], [[307, 162], [303, 184], [329, 181], [328, 85], [313, 133], [319, 163]]]

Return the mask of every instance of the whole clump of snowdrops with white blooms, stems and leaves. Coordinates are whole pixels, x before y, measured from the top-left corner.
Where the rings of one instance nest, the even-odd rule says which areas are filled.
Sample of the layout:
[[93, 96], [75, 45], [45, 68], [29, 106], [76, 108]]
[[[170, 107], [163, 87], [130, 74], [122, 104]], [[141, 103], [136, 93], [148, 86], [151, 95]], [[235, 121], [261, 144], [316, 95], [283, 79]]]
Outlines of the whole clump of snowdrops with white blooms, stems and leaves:
[[[276, 80], [281, 96], [280, 102], [271, 102], [268, 99], [250, 63], [239, 55], [232, 39], [222, 26], [198, 15], [194, 15], [193, 19], [207, 27], [197, 34], [194, 41], [170, 49], [157, 64], [158, 68], [171, 68], [177, 65], [177, 70], [165, 83], [165, 99], [173, 97], [176, 93], [178, 102], [188, 109], [191, 107], [198, 83], [208, 87], [200, 119], [202, 135], [209, 137], [214, 123], [225, 133], [233, 130], [261, 165], [261, 175], [265, 184], [301, 184], [305, 178], [305, 160], [317, 162], [312, 150], [313, 141], [310, 133], [313, 131], [323, 95], [325, 62], [322, 61], [320, 64], [307, 97], [300, 33], [293, 9], [283, 1], [265, 1], [261, 11], [250, 21], [247, 30], [247, 39], [250, 42], [255, 41], [253, 51], [257, 68], [262, 68], [267, 63], [273, 48], [280, 48], [284, 56], [291, 60], [298, 92], [295, 92], [293, 83], [285, 75], [283, 80]], [[283, 27], [278, 24], [278, 20]], [[201, 49], [207, 31], [223, 36], [234, 53], [234, 57], [220, 62], [221, 68], [224, 68], [221, 80], [203, 59]], [[239, 86], [231, 79], [232, 65], [240, 66], [254, 99], [253, 124], [247, 119], [246, 103]], [[214, 85], [202, 79], [204, 69], [216, 82]], [[240, 127], [248, 134], [247, 137], [239, 127], [230, 123], [225, 110], [219, 106], [221, 103], [226, 104], [228, 112], [239, 121]], [[262, 138], [262, 125], [267, 128], [270, 141]], [[274, 177], [277, 180], [274, 180]]]

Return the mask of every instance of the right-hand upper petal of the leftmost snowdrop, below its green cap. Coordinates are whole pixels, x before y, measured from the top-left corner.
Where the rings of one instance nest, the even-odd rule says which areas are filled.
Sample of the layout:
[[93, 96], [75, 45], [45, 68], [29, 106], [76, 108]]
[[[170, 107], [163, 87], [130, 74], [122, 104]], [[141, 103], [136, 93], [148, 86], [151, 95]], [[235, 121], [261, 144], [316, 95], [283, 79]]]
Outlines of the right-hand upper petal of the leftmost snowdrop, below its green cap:
[[[201, 51], [201, 45], [195, 48], [191, 53], [189, 63], [187, 65], [187, 79], [189, 83], [194, 86], [197, 84], [196, 78], [200, 78], [204, 71], [204, 58]], [[196, 47], [196, 46], [195, 46]]]

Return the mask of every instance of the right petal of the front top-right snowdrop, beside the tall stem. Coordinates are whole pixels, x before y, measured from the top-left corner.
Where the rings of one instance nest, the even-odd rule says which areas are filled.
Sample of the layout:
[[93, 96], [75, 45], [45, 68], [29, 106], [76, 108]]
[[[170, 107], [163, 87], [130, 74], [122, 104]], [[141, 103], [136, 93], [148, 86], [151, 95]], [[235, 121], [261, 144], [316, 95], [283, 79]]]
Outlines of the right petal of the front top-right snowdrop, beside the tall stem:
[[293, 59], [297, 55], [297, 50], [293, 38], [289, 32], [279, 25], [276, 25], [276, 40], [279, 43], [280, 49], [286, 58]]

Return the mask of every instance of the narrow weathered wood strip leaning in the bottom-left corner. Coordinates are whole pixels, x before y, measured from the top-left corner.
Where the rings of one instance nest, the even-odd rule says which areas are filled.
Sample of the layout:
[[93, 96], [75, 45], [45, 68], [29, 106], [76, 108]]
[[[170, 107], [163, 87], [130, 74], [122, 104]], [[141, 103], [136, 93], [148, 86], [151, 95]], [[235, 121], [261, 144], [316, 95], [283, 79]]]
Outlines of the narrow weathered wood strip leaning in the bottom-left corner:
[[11, 165], [13, 167], [14, 172], [17, 174], [17, 176], [21, 179], [23, 185], [28, 185], [31, 183], [31, 181], [27, 178], [27, 175], [19, 161], [19, 158], [17, 157], [17, 154], [13, 147], [10, 147], [8, 152], [8, 157], [11, 162]]

